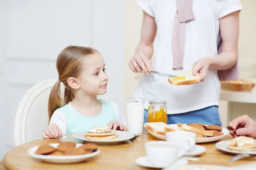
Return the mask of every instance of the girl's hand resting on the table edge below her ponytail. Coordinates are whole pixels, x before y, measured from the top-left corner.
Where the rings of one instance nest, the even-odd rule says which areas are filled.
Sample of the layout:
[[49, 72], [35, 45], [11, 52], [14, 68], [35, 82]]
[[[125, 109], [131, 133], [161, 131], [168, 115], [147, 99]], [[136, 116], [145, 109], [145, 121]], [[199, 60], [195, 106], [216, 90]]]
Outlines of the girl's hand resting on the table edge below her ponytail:
[[58, 139], [59, 135], [62, 135], [62, 131], [55, 123], [52, 123], [51, 125], [47, 126], [43, 131], [44, 139]]

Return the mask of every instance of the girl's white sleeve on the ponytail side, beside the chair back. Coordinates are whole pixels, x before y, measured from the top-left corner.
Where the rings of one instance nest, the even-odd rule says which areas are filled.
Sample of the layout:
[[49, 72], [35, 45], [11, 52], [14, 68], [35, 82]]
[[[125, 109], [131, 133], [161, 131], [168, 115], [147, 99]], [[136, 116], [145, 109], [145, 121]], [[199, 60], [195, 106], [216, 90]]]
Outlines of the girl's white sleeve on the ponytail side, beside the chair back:
[[61, 111], [54, 111], [49, 125], [55, 123], [62, 131], [62, 134], [67, 134], [67, 122], [64, 114]]

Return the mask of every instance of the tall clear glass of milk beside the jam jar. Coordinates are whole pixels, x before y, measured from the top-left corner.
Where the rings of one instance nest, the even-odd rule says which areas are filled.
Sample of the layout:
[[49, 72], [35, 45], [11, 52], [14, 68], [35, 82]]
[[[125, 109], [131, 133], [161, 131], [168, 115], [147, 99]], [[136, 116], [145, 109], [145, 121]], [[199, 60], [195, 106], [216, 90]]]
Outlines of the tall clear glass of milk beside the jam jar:
[[134, 134], [143, 133], [144, 102], [145, 99], [143, 98], [126, 99], [128, 132]]

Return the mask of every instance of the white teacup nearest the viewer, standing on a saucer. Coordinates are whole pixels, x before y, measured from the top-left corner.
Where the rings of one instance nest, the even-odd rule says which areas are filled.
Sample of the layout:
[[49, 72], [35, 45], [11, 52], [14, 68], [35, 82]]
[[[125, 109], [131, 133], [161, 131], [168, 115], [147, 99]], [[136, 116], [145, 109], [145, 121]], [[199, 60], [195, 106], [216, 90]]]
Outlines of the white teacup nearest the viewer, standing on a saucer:
[[181, 145], [166, 141], [146, 142], [145, 151], [149, 163], [162, 167], [172, 164], [186, 152]]

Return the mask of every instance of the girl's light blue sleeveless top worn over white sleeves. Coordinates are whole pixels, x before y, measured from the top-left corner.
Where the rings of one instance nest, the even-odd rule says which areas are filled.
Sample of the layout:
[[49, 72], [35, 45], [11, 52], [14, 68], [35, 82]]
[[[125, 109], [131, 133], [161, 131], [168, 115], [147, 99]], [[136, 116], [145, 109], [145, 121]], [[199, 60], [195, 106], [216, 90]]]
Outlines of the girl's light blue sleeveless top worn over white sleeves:
[[99, 99], [102, 105], [102, 111], [97, 116], [84, 116], [64, 105], [57, 110], [61, 111], [66, 119], [67, 134], [89, 131], [95, 126], [108, 125], [110, 121], [116, 121], [116, 113], [111, 102]]

